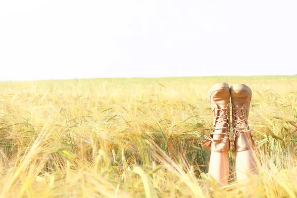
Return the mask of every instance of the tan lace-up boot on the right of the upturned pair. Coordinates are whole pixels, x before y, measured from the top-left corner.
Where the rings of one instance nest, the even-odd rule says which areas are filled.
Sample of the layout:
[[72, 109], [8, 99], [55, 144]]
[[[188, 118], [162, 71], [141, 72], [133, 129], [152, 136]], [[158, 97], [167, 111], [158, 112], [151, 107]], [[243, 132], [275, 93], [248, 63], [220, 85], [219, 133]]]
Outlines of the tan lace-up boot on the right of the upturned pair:
[[248, 127], [248, 112], [251, 90], [247, 85], [235, 84], [230, 87], [232, 103], [232, 125], [234, 134], [234, 150], [243, 151], [255, 148], [255, 141]]

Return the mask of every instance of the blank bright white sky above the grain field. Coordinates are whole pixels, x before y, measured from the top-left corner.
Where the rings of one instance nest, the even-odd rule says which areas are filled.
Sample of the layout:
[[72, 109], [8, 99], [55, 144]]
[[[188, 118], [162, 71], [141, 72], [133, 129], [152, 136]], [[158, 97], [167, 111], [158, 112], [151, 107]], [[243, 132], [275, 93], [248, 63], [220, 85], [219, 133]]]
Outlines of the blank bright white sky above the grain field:
[[0, 81], [297, 74], [296, 0], [0, 0]]

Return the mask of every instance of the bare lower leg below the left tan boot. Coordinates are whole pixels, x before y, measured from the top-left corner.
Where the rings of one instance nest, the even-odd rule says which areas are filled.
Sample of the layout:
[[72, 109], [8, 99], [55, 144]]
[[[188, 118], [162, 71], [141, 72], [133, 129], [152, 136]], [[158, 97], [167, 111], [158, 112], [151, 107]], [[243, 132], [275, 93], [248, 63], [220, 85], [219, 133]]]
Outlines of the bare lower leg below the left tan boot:
[[210, 153], [208, 173], [223, 185], [228, 184], [229, 179], [229, 160], [228, 151]]

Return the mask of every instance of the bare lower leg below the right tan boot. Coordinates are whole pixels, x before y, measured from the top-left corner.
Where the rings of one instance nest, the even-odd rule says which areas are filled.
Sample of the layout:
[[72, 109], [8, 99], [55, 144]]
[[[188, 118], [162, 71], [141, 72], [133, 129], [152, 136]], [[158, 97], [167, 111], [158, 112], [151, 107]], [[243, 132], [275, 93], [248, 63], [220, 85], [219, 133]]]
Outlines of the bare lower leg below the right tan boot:
[[248, 182], [256, 174], [256, 164], [250, 149], [236, 152], [236, 175], [238, 182]]

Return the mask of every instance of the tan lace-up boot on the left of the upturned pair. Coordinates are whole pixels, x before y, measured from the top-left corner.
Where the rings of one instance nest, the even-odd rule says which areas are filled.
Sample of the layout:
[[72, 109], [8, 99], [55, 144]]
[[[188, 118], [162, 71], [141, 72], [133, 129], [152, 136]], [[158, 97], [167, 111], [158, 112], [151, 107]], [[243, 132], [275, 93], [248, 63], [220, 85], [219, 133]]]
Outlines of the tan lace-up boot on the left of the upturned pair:
[[209, 92], [213, 121], [213, 130], [209, 137], [205, 137], [202, 147], [220, 152], [231, 149], [230, 141], [230, 89], [227, 83], [213, 85]]

